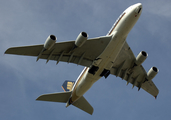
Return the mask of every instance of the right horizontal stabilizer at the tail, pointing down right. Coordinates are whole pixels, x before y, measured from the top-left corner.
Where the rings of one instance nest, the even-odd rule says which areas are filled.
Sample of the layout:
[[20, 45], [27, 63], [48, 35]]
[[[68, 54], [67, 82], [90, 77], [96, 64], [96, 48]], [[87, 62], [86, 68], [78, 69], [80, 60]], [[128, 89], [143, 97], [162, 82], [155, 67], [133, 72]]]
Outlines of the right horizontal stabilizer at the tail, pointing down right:
[[88, 103], [88, 101], [83, 96], [80, 97], [72, 105], [74, 105], [75, 107], [78, 107], [79, 109], [81, 109], [91, 115], [93, 114], [93, 107]]

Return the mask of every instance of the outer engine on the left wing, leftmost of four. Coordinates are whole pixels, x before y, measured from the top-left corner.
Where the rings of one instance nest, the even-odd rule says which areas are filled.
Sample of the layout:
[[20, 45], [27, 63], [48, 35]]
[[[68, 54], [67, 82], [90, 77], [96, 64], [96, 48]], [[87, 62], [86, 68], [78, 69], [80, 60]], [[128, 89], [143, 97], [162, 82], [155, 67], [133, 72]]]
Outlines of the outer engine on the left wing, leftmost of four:
[[49, 35], [49, 37], [45, 41], [44, 49], [50, 50], [53, 47], [53, 45], [55, 44], [56, 40], [57, 40], [56, 36]]

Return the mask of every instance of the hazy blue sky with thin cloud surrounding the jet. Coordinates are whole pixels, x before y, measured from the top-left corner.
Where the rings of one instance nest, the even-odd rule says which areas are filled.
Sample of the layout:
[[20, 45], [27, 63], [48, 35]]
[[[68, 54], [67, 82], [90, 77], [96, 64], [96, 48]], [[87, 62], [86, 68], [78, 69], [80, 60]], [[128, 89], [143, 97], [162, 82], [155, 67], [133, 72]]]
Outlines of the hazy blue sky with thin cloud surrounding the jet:
[[[159, 88], [157, 100], [138, 92], [120, 78], [101, 78], [84, 95], [94, 107], [93, 115], [65, 104], [40, 102], [45, 93], [63, 91], [65, 80], [76, 80], [84, 67], [35, 57], [4, 55], [9, 47], [43, 44], [48, 35], [57, 42], [75, 40], [85, 31], [89, 38], [104, 36], [119, 15], [141, 2], [143, 11], [127, 42], [137, 55], [148, 53], [146, 71], [159, 68], [153, 79]], [[0, 1], [0, 118], [2, 120], [119, 119], [161, 120], [171, 114], [171, 1], [170, 0], [1, 0]]]

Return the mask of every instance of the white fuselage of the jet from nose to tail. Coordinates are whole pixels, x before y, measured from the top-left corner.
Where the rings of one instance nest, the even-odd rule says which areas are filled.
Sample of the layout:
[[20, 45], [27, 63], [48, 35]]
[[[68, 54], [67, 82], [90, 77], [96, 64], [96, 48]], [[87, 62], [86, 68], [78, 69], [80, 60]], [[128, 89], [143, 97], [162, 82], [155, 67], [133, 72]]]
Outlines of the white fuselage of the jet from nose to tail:
[[[109, 44], [105, 50], [94, 60], [93, 65], [98, 70], [94, 74], [90, 71], [91, 67], [85, 67], [72, 89], [69, 104], [78, 100], [90, 87], [102, 77], [104, 70], [110, 71], [119, 52], [121, 51], [128, 33], [137, 22], [141, 15], [142, 4], [138, 3], [127, 8], [116, 20], [107, 36], [111, 36]], [[68, 104], [68, 103], [67, 103]], [[68, 105], [67, 105], [68, 106]]]

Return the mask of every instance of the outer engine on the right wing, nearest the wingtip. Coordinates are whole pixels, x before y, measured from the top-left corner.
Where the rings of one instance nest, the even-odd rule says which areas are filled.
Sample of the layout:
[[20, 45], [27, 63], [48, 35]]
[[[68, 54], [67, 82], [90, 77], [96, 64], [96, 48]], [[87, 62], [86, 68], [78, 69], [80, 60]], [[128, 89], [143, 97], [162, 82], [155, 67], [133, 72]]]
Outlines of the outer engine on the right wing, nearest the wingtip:
[[147, 79], [152, 80], [158, 72], [159, 70], [156, 67], [152, 67], [147, 73]]

